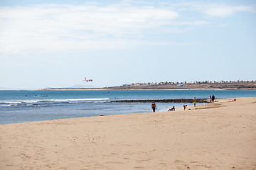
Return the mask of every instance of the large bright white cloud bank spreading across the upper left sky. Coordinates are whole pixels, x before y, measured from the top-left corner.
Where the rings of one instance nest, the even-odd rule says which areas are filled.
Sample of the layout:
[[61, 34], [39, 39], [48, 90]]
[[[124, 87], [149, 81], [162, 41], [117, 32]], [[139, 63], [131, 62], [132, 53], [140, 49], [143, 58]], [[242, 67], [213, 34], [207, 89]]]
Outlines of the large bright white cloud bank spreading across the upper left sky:
[[125, 38], [137, 40], [176, 18], [178, 13], [164, 8], [120, 4], [2, 6], [0, 52], [127, 47]]

